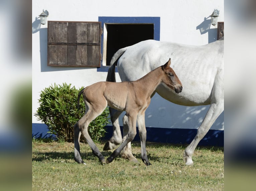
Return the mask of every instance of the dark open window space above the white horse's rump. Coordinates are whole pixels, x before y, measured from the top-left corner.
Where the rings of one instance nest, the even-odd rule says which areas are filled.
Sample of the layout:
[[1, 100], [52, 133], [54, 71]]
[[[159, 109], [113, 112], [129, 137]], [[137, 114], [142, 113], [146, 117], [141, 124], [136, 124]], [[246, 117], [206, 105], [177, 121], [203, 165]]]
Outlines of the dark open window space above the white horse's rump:
[[107, 24], [106, 65], [120, 48], [154, 39], [154, 24]]

